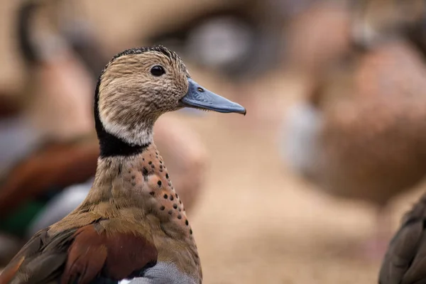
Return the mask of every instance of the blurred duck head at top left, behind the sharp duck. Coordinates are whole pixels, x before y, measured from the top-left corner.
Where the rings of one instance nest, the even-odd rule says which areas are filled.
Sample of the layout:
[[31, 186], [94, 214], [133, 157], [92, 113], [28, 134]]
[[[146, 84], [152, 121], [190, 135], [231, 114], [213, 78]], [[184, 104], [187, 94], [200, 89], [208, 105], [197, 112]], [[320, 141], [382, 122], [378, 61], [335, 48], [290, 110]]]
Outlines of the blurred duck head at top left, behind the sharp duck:
[[76, 15], [75, 6], [60, 0], [21, 1], [16, 15], [16, 38], [28, 67], [67, 57], [82, 61], [94, 78], [99, 76], [108, 60], [93, 26]]

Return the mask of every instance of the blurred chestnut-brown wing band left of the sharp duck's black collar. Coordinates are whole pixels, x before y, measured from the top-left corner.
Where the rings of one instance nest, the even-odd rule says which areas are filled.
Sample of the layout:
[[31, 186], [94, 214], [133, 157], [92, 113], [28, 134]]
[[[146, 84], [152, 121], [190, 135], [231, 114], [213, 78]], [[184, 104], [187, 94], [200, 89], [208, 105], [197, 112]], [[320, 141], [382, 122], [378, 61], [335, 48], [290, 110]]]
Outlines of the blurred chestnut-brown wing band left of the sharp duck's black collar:
[[0, 219], [52, 185], [85, 182], [96, 171], [99, 146], [90, 136], [49, 143], [13, 167], [0, 184]]

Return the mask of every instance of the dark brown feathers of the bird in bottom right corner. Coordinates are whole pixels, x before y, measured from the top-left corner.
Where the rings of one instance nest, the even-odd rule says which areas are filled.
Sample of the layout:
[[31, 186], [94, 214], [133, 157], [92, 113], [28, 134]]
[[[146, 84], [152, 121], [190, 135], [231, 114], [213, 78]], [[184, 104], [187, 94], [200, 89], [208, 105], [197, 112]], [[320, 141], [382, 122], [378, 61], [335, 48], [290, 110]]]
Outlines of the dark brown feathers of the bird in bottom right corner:
[[380, 284], [426, 283], [426, 195], [406, 214], [381, 266]]

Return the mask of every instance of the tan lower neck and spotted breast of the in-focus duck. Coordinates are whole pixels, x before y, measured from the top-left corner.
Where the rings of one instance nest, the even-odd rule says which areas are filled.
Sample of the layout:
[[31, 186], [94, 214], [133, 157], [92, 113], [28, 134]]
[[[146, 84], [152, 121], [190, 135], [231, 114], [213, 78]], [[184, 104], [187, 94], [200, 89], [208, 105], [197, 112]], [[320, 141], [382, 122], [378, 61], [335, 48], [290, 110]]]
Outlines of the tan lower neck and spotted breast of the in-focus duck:
[[154, 143], [137, 155], [99, 158], [92, 189], [75, 212], [148, 228], [158, 245], [158, 263], [173, 263], [195, 279], [185, 283], [200, 283], [190, 222]]

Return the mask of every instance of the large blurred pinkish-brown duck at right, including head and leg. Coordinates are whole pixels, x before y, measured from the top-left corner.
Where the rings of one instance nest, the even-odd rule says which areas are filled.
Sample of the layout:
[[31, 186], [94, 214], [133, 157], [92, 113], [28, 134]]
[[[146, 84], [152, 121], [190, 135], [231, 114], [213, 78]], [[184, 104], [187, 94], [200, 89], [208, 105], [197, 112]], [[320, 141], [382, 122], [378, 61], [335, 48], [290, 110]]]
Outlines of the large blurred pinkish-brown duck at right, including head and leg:
[[334, 53], [317, 50], [328, 59], [306, 65], [311, 89], [285, 118], [281, 151], [290, 168], [330, 195], [377, 207], [366, 244], [373, 258], [391, 236], [386, 205], [426, 174], [426, 66], [410, 39], [424, 21], [419, 5], [361, 1], [354, 15], [340, 10], [346, 26], [335, 28]]

